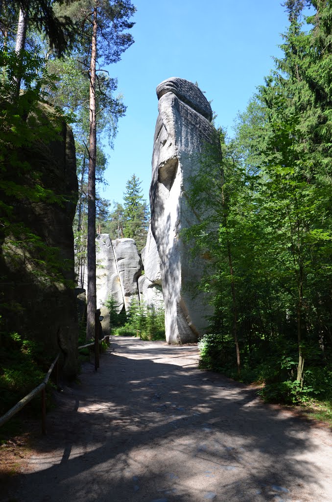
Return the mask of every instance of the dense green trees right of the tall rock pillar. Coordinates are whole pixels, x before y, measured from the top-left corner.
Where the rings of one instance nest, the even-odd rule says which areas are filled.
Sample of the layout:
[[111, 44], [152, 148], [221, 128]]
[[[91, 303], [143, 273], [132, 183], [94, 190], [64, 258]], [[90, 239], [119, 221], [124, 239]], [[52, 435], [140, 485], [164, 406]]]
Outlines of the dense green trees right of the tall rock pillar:
[[[302, 31], [305, 5], [317, 12]], [[193, 259], [206, 258], [199, 287], [215, 312], [201, 367], [264, 385], [268, 401], [300, 404], [332, 394], [332, 18], [329, 2], [286, 8], [283, 57], [235, 139], [221, 134], [220, 148], [200, 156], [187, 194], [199, 221], [183, 234]]]

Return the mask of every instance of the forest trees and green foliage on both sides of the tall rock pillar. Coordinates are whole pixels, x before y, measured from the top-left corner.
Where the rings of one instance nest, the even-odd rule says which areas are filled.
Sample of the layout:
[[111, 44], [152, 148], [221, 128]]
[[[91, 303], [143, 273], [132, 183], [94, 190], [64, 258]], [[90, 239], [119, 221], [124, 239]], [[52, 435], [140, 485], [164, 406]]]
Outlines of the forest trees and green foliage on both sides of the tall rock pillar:
[[[289, 26], [282, 56], [238, 115], [235, 135], [216, 129], [215, 144], [199, 155], [186, 194], [199, 221], [182, 235], [193, 258], [208, 258], [194, 285], [214, 309], [198, 343], [200, 367], [256, 384], [269, 402], [322, 403], [331, 415], [332, 5], [286, 0], [283, 8]], [[148, 227], [135, 174], [124, 204], [101, 196], [105, 145], [112, 147], [126, 112], [103, 64], [118, 62], [133, 43], [135, 10], [129, 0], [0, 0], [2, 260], [8, 249], [24, 249], [41, 281], [68, 284], [57, 249], [24, 226], [15, 208], [27, 200], [75, 206], [72, 287], [88, 278], [88, 338], [96, 234], [134, 238], [140, 250]], [[75, 138], [77, 200], [46, 189], [19, 153], [56, 139], [63, 122]], [[4, 317], [18, 308], [9, 305], [6, 286], [0, 304]], [[24, 373], [32, 375], [28, 385], [38, 381], [41, 349], [6, 322], [0, 328], [0, 386], [16, 398], [27, 385]]]

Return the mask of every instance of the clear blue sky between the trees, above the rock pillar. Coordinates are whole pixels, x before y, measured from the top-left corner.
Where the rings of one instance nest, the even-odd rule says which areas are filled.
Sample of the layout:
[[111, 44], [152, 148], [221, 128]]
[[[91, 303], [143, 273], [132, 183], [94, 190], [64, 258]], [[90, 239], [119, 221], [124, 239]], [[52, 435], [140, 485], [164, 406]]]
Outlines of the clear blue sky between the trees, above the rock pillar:
[[216, 124], [232, 135], [233, 121], [280, 56], [288, 21], [281, 0], [133, 0], [135, 43], [110, 65], [127, 106], [119, 120], [101, 195], [122, 202], [135, 173], [148, 200], [155, 88], [169, 77], [198, 82], [217, 113]]

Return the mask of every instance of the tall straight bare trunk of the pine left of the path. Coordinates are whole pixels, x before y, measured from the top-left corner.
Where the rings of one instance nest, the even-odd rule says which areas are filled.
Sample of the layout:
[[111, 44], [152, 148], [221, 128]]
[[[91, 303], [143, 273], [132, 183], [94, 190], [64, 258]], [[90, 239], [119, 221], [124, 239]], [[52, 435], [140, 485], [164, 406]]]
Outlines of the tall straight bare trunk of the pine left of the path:
[[90, 131], [88, 179], [88, 295], [87, 340], [95, 337], [96, 300], [96, 59], [97, 59], [97, 7], [93, 9], [93, 34], [90, 64]]

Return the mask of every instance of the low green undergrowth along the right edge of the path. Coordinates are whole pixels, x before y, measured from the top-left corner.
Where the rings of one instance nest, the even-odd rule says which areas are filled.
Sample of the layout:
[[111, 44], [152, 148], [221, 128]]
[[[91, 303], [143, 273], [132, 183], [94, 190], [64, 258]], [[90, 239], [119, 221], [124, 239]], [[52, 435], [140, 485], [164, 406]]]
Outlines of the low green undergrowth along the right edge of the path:
[[[199, 367], [223, 373], [245, 384], [260, 385], [259, 396], [268, 403], [311, 406], [314, 418], [332, 420], [332, 361], [313, 344], [303, 344], [306, 366], [303, 382], [296, 380], [296, 345], [287, 340], [264, 341], [241, 351], [238, 375], [231, 336], [205, 334], [199, 341]], [[287, 347], [287, 352], [285, 347]]]

